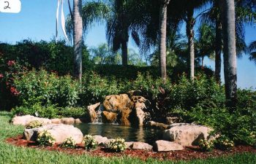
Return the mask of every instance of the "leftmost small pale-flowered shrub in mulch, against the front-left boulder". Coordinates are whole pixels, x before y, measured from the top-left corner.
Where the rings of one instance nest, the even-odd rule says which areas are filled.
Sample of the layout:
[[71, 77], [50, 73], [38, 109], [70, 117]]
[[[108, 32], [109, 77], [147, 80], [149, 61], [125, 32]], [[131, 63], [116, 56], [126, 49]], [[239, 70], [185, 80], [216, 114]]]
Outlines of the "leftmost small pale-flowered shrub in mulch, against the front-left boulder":
[[56, 139], [48, 132], [48, 130], [43, 130], [38, 133], [37, 142], [39, 146], [47, 147], [53, 146], [55, 144]]

